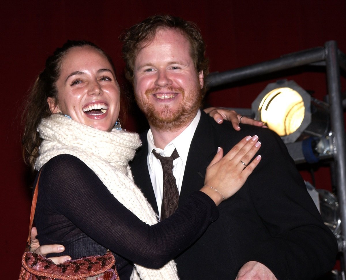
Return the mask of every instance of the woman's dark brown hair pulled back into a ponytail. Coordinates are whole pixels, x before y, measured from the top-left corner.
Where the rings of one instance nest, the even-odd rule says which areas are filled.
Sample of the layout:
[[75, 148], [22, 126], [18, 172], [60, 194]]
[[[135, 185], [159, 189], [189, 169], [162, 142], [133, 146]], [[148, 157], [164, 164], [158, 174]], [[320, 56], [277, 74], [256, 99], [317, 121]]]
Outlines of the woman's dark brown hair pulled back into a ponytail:
[[53, 55], [47, 58], [44, 70], [38, 75], [34, 86], [31, 88], [22, 115], [22, 123], [24, 124], [22, 135], [23, 158], [24, 162], [33, 169], [35, 159], [38, 156], [38, 147], [42, 142], [37, 132], [37, 127], [43, 118], [52, 114], [51, 110], [49, 110], [47, 98], [53, 97], [55, 102], [58, 102], [58, 92], [55, 83], [60, 76], [61, 62], [70, 49], [83, 46], [91, 46], [98, 50], [108, 59], [115, 72], [110, 56], [100, 47], [88, 41], [68, 40], [62, 47], [57, 48]]

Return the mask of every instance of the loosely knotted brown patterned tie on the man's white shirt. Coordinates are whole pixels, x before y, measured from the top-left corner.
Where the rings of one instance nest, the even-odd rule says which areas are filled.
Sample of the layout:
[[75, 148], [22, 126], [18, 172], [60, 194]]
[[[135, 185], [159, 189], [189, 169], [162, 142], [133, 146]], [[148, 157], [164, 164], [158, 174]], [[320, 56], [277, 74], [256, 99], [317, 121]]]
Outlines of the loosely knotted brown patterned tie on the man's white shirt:
[[161, 205], [161, 221], [171, 216], [178, 208], [179, 192], [173, 176], [173, 160], [179, 158], [174, 149], [170, 157], [163, 157], [153, 150], [154, 156], [161, 161], [163, 171], [163, 196]]

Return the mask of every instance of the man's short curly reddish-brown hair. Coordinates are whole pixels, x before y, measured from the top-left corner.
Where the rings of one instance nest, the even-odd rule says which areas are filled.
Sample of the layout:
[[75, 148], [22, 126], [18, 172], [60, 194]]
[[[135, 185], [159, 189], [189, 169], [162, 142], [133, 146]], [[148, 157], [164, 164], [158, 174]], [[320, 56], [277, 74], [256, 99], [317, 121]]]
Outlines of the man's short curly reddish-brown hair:
[[[180, 30], [191, 44], [191, 57], [197, 73], [203, 71], [204, 79], [208, 75], [209, 61], [206, 58], [206, 44], [197, 25], [180, 17], [171, 15], [155, 15], [127, 29], [121, 36], [122, 58], [125, 61], [126, 79], [133, 84], [134, 64], [138, 52], [144, 42], [152, 40], [158, 28], [173, 28]], [[202, 89], [204, 92], [204, 87]]]

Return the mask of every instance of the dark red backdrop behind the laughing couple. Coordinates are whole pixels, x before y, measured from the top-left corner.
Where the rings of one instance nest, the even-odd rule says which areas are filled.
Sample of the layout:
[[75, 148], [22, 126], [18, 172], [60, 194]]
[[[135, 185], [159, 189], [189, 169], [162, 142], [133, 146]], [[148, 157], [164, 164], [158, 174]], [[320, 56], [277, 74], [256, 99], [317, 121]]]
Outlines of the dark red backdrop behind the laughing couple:
[[[6, 1], [1, 5], [1, 271], [18, 277], [29, 220], [31, 184], [22, 163], [19, 119], [24, 97], [44, 62], [67, 39], [100, 45], [113, 58], [121, 83], [124, 63], [118, 36], [122, 30], [153, 14], [169, 13], [192, 20], [207, 43], [210, 70], [226, 71], [278, 58], [280, 55], [323, 46], [336, 40], [346, 52], [345, 0], [223, 0], [223, 1]], [[313, 96], [326, 95], [324, 73], [292, 77]], [[275, 79], [274, 79], [275, 80]], [[216, 91], [214, 106], [250, 108], [267, 81]], [[345, 79], [342, 81], [345, 90]], [[140, 130], [133, 117], [124, 124]], [[315, 168], [317, 188], [331, 190], [328, 167]], [[308, 172], [302, 172], [311, 181]]]

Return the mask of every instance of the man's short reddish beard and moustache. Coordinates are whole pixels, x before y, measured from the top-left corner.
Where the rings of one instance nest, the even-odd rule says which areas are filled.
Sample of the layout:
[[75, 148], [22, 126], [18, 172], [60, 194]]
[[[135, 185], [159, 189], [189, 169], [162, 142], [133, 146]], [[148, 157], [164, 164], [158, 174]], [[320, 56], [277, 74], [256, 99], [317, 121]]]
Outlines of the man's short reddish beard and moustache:
[[[199, 86], [199, 85], [198, 85]], [[159, 131], [175, 131], [190, 124], [195, 117], [197, 110], [202, 103], [202, 93], [197, 85], [190, 89], [187, 95], [183, 88], [169, 87], [173, 92], [182, 94], [183, 100], [180, 107], [172, 112], [170, 105], [160, 106], [156, 109], [154, 104], [144, 103], [143, 100], [136, 98], [138, 107], [145, 114], [148, 123], [151, 127]], [[155, 93], [158, 89], [148, 89], [145, 91], [145, 96]], [[188, 96], [188, 97], [186, 97]]]

